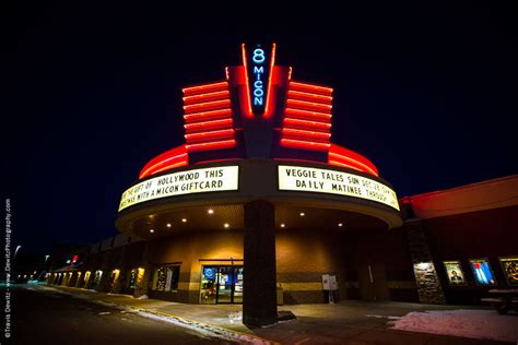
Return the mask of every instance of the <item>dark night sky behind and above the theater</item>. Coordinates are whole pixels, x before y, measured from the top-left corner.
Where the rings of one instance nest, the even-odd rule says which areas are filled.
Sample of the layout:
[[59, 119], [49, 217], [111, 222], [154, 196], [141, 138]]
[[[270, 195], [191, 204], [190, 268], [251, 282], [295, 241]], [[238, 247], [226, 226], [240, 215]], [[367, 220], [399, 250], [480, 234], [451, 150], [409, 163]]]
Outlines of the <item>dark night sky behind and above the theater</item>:
[[275, 40], [294, 79], [332, 86], [332, 141], [400, 197], [517, 172], [517, 12], [501, 1], [107, 2], [11, 16], [2, 192], [15, 245], [115, 235], [123, 189], [184, 142], [181, 87], [224, 78], [243, 41]]

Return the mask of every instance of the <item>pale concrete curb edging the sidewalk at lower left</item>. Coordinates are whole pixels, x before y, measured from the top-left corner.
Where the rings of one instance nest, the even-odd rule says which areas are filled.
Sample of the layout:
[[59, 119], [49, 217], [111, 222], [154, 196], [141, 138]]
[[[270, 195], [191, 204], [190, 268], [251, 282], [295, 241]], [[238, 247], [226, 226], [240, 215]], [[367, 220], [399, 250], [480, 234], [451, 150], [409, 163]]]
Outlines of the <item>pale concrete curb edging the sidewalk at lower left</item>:
[[[54, 288], [54, 289], [56, 289], [58, 292], [61, 292], [61, 293], [66, 293], [67, 295], [71, 295], [75, 298], [82, 298], [83, 299], [83, 297], [76, 296], [74, 294], [73, 290], [75, 288], [67, 287], [63, 290], [60, 287], [56, 287], [56, 286], [48, 286], [48, 285], [44, 285], [44, 286]], [[72, 290], [72, 292], [70, 292], [70, 290]], [[78, 289], [78, 293], [80, 290], [84, 290], [84, 289], [80, 288], [80, 289]], [[104, 293], [101, 293], [101, 294], [104, 294]], [[113, 294], [113, 295], [118, 295], [118, 294]], [[149, 316], [153, 317], [154, 316], [155, 318], [153, 318], [153, 319], [162, 320], [162, 321], [169, 321], [169, 322], [172, 322], [172, 323], [174, 323], [178, 326], [195, 330], [195, 331], [198, 331], [200, 333], [205, 333], [208, 335], [211, 335], [211, 336], [214, 336], [214, 337], [217, 337], [217, 338], [222, 338], [222, 340], [226, 340], [226, 341], [237, 341], [237, 342], [247, 343], [247, 344], [280, 345], [280, 343], [278, 343], [278, 342], [272, 342], [272, 341], [262, 338], [262, 337], [257, 336], [257, 335], [247, 334], [247, 333], [235, 331], [235, 330], [228, 330], [228, 329], [225, 329], [225, 328], [222, 328], [222, 326], [219, 326], [219, 325], [213, 325], [213, 324], [210, 324], [210, 323], [204, 323], [204, 322], [200, 322], [200, 321], [196, 321], [196, 320], [191, 320], [191, 319], [187, 319], [187, 318], [181, 318], [181, 317], [168, 314], [168, 313], [157, 311], [157, 310], [151, 310], [151, 309], [146, 309], [146, 308], [142, 308], [142, 307], [136, 307], [136, 306], [125, 305], [125, 304], [120, 304], [120, 302], [114, 302], [114, 301], [110, 301], [110, 300], [105, 300], [101, 296], [99, 296], [99, 298], [96, 298], [96, 299], [91, 299], [91, 298], [87, 298], [87, 299], [90, 301], [93, 301], [93, 302], [102, 302], [102, 304], [107, 304], [107, 305], [111, 305], [111, 306], [116, 306], [116, 307], [123, 307], [123, 308], [137, 310], [139, 313], [143, 313], [144, 317], [149, 317]], [[166, 320], [164, 320], [164, 319], [166, 319]]]

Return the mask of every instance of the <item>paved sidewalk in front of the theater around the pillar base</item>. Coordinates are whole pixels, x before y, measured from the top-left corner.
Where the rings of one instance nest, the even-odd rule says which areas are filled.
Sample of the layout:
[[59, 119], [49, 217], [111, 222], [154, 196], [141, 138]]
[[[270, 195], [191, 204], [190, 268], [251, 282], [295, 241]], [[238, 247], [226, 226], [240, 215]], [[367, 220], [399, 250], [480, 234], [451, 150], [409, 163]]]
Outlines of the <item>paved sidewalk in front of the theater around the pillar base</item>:
[[[50, 286], [49, 286], [50, 287]], [[411, 311], [451, 310], [456, 306], [432, 306], [404, 302], [362, 302], [348, 300], [337, 305], [280, 306], [279, 311], [291, 311], [297, 319], [275, 325], [248, 329], [238, 319], [240, 305], [186, 305], [157, 299], [137, 299], [127, 295], [95, 293], [71, 287], [57, 287], [78, 297], [99, 302], [138, 308], [165, 318], [179, 318], [201, 328], [223, 330], [242, 335], [244, 342], [268, 340], [281, 344], [506, 344], [427, 333], [389, 329], [387, 322]], [[462, 309], [474, 307], [462, 306]], [[480, 308], [480, 307], [478, 307]]]

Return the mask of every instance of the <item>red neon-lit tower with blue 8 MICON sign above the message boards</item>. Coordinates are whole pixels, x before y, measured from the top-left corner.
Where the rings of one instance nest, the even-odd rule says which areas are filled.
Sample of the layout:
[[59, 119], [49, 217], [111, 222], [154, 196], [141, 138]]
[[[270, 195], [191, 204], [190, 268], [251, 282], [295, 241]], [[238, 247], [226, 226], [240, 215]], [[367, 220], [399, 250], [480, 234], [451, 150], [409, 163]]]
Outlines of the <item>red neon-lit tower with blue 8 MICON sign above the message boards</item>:
[[275, 53], [275, 44], [243, 44], [243, 64], [225, 68], [224, 80], [184, 88], [186, 143], [151, 159], [139, 178], [244, 158], [320, 163], [378, 176], [366, 157], [331, 143], [332, 88], [293, 80], [293, 69], [276, 66]]

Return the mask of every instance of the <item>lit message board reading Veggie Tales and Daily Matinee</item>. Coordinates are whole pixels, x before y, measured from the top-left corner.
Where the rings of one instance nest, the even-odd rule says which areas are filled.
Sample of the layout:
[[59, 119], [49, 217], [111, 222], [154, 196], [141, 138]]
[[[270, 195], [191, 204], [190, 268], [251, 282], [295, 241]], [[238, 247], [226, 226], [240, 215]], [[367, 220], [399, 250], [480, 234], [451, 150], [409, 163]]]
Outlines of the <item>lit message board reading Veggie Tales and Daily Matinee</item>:
[[337, 170], [280, 165], [279, 189], [366, 199], [399, 211], [398, 197], [389, 187], [364, 176]]

